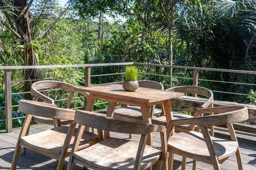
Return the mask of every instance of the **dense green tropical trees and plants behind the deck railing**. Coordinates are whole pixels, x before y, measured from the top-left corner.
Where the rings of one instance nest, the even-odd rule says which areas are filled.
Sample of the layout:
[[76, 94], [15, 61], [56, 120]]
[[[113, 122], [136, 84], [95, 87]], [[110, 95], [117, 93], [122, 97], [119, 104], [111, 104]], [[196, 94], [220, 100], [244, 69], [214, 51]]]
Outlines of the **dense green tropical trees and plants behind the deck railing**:
[[[256, 0], [69, 0], [65, 6], [58, 0], [0, 0], [0, 65], [145, 62], [256, 71], [255, 16]], [[146, 73], [138, 74], [138, 80], [154, 80], [166, 88], [192, 85], [191, 79], [178, 78], [193, 77], [189, 70], [138, 69]], [[0, 71], [2, 82], [4, 74]], [[124, 71], [122, 66], [96, 67], [91, 74]], [[212, 81], [199, 81], [198, 85], [231, 93], [215, 92], [215, 99], [255, 103], [253, 74], [200, 71], [199, 75], [199, 79]], [[31, 99], [26, 92], [38, 79], [82, 86], [83, 76], [84, 68], [12, 70], [13, 91], [24, 93], [15, 96], [14, 92], [13, 100]], [[95, 85], [123, 79], [124, 75], [118, 74], [91, 77], [91, 82]], [[0, 88], [4, 90], [4, 85]], [[60, 99], [67, 98], [66, 91], [45, 93], [58, 100], [60, 107], [65, 106], [65, 100]], [[251, 97], [233, 93], [250, 93]], [[84, 99], [75, 97], [71, 106], [82, 108]], [[0, 100], [3, 120], [3, 96]], [[95, 109], [106, 107], [101, 102], [96, 101]]]

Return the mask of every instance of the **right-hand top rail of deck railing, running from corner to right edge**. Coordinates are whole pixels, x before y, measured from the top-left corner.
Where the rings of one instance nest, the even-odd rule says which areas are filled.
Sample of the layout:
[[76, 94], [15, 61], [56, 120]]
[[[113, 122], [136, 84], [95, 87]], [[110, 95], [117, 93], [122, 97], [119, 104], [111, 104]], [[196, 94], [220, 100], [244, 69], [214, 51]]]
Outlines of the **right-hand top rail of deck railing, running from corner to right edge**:
[[148, 64], [134, 62], [135, 65], [149, 65], [157, 67], [167, 67], [167, 68], [183, 68], [190, 70], [206, 70], [206, 71], [219, 71], [219, 72], [229, 72], [229, 73], [244, 73], [244, 74], [256, 74], [256, 71], [243, 71], [243, 70], [227, 70], [227, 69], [218, 69], [218, 68], [201, 68], [201, 67], [187, 67], [187, 66], [177, 66], [177, 65], [160, 65], [160, 64]]

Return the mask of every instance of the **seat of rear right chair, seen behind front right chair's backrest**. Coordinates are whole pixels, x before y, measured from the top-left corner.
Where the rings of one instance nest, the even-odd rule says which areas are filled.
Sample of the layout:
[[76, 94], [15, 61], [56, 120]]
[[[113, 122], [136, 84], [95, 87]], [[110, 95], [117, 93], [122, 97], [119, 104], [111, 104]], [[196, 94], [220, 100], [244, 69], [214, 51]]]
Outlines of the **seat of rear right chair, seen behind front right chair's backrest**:
[[[184, 118], [192, 118], [193, 117], [189, 114], [178, 113], [178, 112], [173, 112], [172, 115], [173, 115], [173, 119], [184, 119]], [[153, 118], [152, 124], [167, 126], [166, 116], [160, 116], [160, 117]], [[180, 132], [188, 130], [188, 129], [189, 129], [189, 125], [180, 125], [180, 126], [175, 127], [175, 130], [180, 131]], [[197, 129], [197, 126], [195, 126], [195, 130], [196, 129]]]

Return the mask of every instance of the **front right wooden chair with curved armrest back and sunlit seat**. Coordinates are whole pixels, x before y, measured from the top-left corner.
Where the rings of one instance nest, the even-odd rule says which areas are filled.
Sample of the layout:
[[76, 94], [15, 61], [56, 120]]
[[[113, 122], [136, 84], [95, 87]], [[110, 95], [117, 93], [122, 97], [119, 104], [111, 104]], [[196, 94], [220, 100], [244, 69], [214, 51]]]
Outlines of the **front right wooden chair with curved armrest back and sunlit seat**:
[[[214, 113], [214, 115], [202, 116], [207, 113]], [[214, 170], [220, 170], [220, 164], [236, 153], [238, 168], [243, 170], [240, 149], [232, 123], [247, 119], [247, 107], [224, 106], [198, 109], [193, 118], [171, 120], [167, 127], [169, 169], [172, 170], [173, 167], [173, 154], [183, 156], [182, 170], [185, 170], [186, 157], [212, 164]], [[175, 126], [188, 124], [191, 125], [189, 130], [171, 136]], [[195, 125], [200, 127], [202, 133], [194, 131]], [[207, 126], [211, 125], [227, 125], [231, 141], [211, 137], [207, 129]], [[196, 165], [193, 165], [193, 170], [195, 169]]]

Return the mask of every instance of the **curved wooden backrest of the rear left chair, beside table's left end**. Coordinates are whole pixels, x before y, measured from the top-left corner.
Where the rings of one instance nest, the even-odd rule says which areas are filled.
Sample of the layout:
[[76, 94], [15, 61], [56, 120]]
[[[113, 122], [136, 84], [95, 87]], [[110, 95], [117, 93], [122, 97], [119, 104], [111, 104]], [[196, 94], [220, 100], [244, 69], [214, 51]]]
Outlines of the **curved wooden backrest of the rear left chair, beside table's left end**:
[[77, 92], [79, 94], [82, 94], [86, 97], [88, 96], [88, 94], [85, 93], [85, 92], [76, 91], [75, 90], [76, 86], [71, 85], [69, 83], [46, 80], [46, 81], [35, 82], [31, 85], [31, 95], [33, 96], [33, 100], [37, 101], [38, 98], [39, 98], [39, 99], [42, 99], [44, 102], [54, 104], [53, 99], [51, 99], [48, 96], [39, 92], [39, 90], [49, 89], [49, 88], [57, 88], [57, 89], [63, 89], [63, 90], [70, 91], [70, 96], [67, 100], [66, 108], [70, 107], [70, 104], [71, 104], [71, 101], [73, 99], [73, 96], [74, 96], [75, 92]]

